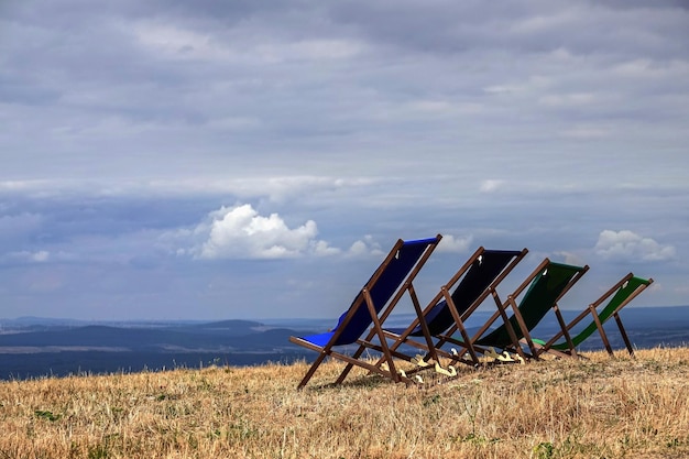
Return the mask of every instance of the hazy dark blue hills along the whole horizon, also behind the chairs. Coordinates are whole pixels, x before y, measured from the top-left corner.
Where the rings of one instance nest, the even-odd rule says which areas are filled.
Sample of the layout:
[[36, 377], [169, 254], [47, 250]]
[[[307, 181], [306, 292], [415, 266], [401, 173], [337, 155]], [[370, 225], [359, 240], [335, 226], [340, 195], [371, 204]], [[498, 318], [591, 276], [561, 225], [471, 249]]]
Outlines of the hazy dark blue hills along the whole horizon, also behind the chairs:
[[[565, 312], [571, 317], [576, 312]], [[485, 320], [478, 312], [469, 329]], [[413, 316], [394, 315], [391, 326], [405, 326]], [[636, 348], [689, 343], [689, 306], [630, 307], [623, 312], [630, 339]], [[325, 331], [336, 323], [324, 319], [220, 321], [84, 323], [69, 319], [24, 317], [0, 320], [0, 380], [66, 375], [79, 372], [198, 368], [210, 363], [254, 365], [313, 360], [316, 353], [292, 345], [289, 336]], [[284, 325], [283, 325], [284, 324]], [[327, 325], [326, 325], [327, 324]], [[611, 345], [624, 347], [614, 321], [606, 324]], [[311, 330], [311, 331], [309, 331]], [[544, 320], [534, 331], [549, 337], [557, 323]], [[593, 335], [581, 350], [602, 349]]]

